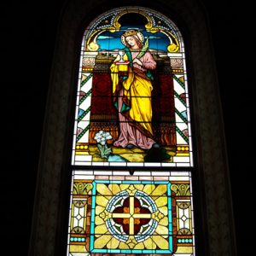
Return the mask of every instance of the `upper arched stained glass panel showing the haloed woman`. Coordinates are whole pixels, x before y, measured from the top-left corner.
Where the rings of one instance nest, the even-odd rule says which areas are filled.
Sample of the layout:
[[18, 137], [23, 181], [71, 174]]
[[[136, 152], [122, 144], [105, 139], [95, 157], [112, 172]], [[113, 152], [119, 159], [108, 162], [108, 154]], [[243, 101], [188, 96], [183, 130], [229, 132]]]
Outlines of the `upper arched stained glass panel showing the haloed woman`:
[[183, 38], [159, 13], [120, 8], [84, 31], [73, 165], [193, 166]]

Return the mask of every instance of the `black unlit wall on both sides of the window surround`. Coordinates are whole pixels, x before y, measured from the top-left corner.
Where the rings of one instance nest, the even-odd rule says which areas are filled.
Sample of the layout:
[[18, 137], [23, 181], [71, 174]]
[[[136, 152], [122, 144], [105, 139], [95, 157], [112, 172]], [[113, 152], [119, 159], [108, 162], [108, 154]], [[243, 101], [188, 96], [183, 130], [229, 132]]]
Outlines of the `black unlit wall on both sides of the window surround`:
[[[212, 30], [222, 100], [238, 255], [251, 255], [255, 103], [253, 9], [245, 1], [204, 1]], [[44, 110], [63, 0], [4, 3], [2, 39], [3, 167], [1, 238], [27, 254]], [[253, 59], [252, 59], [253, 61]], [[255, 200], [254, 200], [255, 201]], [[247, 215], [243, 215], [244, 210]], [[252, 220], [249, 221], [249, 216]], [[250, 245], [251, 243], [251, 245]], [[4, 244], [4, 243], [3, 243]]]

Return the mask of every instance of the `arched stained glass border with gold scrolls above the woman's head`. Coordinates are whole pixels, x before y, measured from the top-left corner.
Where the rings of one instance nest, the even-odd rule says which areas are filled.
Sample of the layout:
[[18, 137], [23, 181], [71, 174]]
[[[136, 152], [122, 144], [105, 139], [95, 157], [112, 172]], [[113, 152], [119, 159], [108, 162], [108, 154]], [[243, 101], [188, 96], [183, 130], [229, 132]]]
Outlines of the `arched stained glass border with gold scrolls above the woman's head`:
[[[93, 20], [84, 32], [84, 39], [87, 42], [85, 49], [97, 50], [99, 45], [96, 44], [96, 38], [102, 32], [122, 32], [127, 29], [123, 26], [122, 21], [129, 14], [144, 17], [144, 24], [139, 24], [139, 20], [137, 20], [137, 25], [140, 25], [141, 30], [152, 34], [164, 33], [170, 40], [170, 44], [167, 45], [168, 52], [180, 52], [182, 50], [183, 38], [172, 20], [153, 9], [134, 6], [110, 10]], [[136, 20], [131, 20], [131, 23], [135, 24], [134, 21]]]

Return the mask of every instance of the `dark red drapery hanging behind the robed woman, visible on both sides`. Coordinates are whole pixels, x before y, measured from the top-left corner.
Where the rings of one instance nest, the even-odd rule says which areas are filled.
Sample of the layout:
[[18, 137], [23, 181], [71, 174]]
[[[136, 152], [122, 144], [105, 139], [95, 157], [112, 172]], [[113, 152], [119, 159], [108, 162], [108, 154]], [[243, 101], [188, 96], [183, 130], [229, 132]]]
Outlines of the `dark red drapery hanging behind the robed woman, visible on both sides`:
[[[154, 138], [162, 145], [176, 145], [172, 73], [156, 73], [152, 81], [152, 126]], [[118, 114], [113, 107], [110, 73], [94, 73], [90, 112], [90, 143], [97, 131], [110, 131], [113, 141], [119, 136]]]

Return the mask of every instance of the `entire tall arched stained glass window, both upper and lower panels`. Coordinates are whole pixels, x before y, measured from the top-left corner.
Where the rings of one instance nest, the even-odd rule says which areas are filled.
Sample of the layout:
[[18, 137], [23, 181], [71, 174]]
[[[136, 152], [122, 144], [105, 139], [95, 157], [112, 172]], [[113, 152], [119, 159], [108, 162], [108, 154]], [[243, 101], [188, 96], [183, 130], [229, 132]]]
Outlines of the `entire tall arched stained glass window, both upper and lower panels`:
[[195, 255], [177, 26], [137, 7], [97, 17], [84, 30], [77, 88], [67, 255]]

